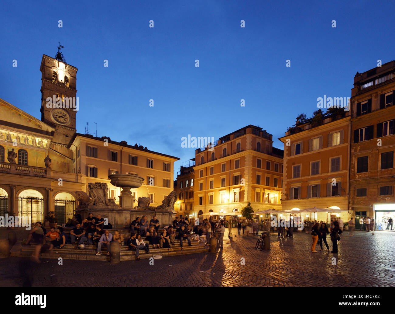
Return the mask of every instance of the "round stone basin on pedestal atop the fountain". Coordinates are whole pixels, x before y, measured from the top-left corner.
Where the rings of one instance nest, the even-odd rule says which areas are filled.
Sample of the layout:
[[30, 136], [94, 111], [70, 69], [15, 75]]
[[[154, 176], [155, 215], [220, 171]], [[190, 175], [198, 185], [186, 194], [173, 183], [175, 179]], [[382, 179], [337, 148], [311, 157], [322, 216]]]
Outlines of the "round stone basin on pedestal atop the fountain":
[[137, 189], [141, 187], [144, 179], [134, 174], [110, 174], [108, 178], [111, 184], [116, 187], [121, 187], [121, 195], [119, 195], [119, 204], [122, 208], [133, 208], [134, 197], [130, 189]]

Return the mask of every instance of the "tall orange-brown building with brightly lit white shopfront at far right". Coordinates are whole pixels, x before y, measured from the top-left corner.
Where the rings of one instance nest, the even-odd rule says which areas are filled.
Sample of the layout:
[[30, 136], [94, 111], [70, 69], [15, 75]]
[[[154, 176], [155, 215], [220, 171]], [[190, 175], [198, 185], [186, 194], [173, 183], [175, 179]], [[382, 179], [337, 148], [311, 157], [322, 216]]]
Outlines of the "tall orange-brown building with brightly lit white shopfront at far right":
[[393, 229], [395, 218], [395, 61], [354, 77], [350, 209], [359, 218], [373, 216], [376, 229]]

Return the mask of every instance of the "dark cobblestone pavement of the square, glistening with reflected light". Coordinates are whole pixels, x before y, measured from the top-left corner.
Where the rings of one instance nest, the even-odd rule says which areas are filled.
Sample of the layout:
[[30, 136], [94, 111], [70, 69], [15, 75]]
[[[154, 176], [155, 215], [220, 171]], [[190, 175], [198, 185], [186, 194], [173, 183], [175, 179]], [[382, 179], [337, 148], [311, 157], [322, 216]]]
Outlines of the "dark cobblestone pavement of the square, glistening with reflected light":
[[[236, 229], [233, 229], [236, 231]], [[342, 235], [339, 253], [311, 253], [311, 235], [271, 234], [271, 250], [254, 250], [256, 236], [224, 237], [224, 249], [111, 264], [102, 261], [0, 259], [0, 286], [395, 286], [395, 233]], [[328, 237], [329, 251], [331, 241]], [[317, 245], [316, 250], [320, 247]], [[144, 254], [144, 253], [143, 253]], [[336, 265], [332, 258], [336, 257]], [[241, 265], [241, 258], [245, 265]], [[52, 275], [52, 276], [51, 276]]]

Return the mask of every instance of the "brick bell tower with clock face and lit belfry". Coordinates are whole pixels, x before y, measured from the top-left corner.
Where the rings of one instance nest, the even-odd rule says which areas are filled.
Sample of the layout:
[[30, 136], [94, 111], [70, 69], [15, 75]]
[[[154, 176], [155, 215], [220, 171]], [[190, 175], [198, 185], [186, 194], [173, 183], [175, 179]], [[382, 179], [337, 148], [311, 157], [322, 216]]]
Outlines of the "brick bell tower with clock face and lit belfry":
[[78, 69], [66, 63], [61, 48], [64, 47], [59, 43], [55, 58], [43, 55], [41, 59], [40, 112], [41, 121], [56, 129], [52, 143], [66, 148], [76, 131]]

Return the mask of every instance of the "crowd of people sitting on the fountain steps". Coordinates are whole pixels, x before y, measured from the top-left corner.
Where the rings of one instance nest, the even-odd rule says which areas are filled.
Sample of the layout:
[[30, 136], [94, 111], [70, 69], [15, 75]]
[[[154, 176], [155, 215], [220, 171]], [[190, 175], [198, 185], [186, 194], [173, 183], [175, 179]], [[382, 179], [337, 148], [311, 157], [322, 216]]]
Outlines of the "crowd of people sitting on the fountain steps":
[[[184, 241], [188, 243], [188, 246], [192, 246], [192, 240], [197, 240], [198, 243], [205, 241], [206, 246], [209, 244], [209, 240], [213, 235], [217, 239], [217, 244], [220, 244], [220, 248], [223, 248], [225, 232], [224, 221], [208, 221], [205, 219], [202, 224], [194, 226], [193, 230], [191, 230], [190, 220], [188, 218], [176, 217], [173, 224], [164, 227], [159, 235], [159, 220], [156, 216], [153, 216], [148, 221], [145, 215], [141, 219], [140, 217], [136, 217], [132, 221], [130, 224], [130, 237], [127, 240], [124, 240], [119, 231], [114, 231], [114, 234], [112, 234], [109, 229], [105, 229], [104, 219], [101, 215], [94, 217], [92, 213], [89, 213], [85, 219], [81, 219], [81, 216], [78, 217], [75, 215], [73, 219], [69, 219], [66, 226], [73, 227], [70, 230], [70, 242], [77, 245], [76, 249], [81, 244], [96, 244], [96, 255], [101, 255], [102, 247], [105, 245], [107, 247], [107, 255], [110, 255], [111, 242], [117, 241], [120, 245], [126, 244], [129, 250], [135, 251], [135, 258], [137, 260], [140, 260], [139, 250], [144, 249], [145, 252], [150, 253], [150, 244], [154, 249], [167, 248], [170, 250], [172, 245], [176, 245], [176, 238], [180, 241], [182, 248]], [[145, 239], [142, 237], [145, 237]], [[64, 227], [51, 227], [50, 231], [47, 232], [43, 224], [38, 221], [36, 224], [33, 224], [33, 228], [23, 244], [28, 245], [32, 240], [39, 244], [47, 244], [48, 242], [49, 250], [52, 250], [53, 248], [64, 247], [68, 242], [68, 236], [64, 232]]]

